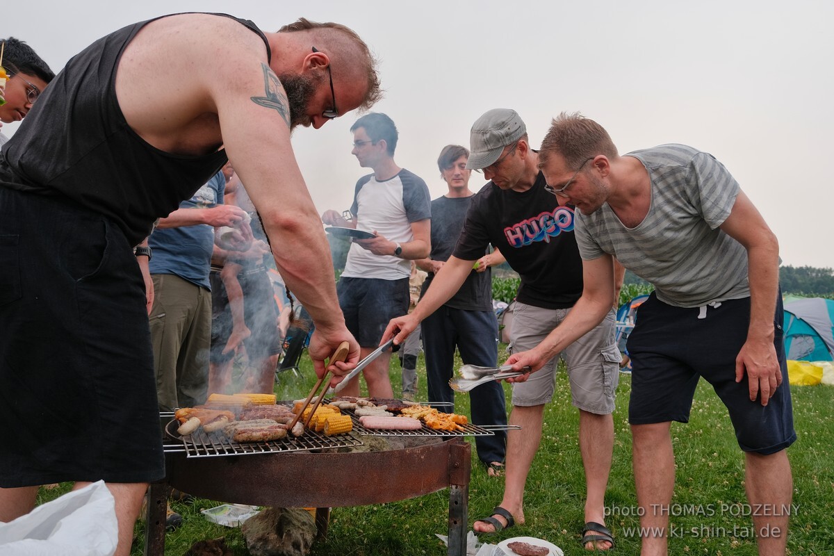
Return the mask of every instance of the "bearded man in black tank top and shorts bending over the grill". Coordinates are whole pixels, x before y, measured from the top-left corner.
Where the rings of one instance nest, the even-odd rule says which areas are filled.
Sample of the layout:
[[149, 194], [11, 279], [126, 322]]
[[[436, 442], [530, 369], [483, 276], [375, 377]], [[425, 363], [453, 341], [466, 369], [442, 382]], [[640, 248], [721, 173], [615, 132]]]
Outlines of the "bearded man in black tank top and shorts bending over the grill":
[[315, 372], [343, 341], [333, 382], [354, 368], [359, 344], [289, 136], [379, 98], [367, 45], [305, 19], [261, 33], [224, 14], [175, 14], [67, 63], [0, 156], [0, 521], [28, 513], [40, 484], [102, 479], [116, 553], [129, 553], [147, 483], [164, 476], [148, 254], [137, 263], [132, 249], [227, 158], [314, 319]]

